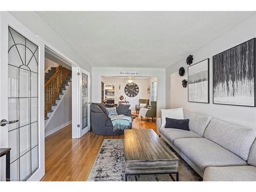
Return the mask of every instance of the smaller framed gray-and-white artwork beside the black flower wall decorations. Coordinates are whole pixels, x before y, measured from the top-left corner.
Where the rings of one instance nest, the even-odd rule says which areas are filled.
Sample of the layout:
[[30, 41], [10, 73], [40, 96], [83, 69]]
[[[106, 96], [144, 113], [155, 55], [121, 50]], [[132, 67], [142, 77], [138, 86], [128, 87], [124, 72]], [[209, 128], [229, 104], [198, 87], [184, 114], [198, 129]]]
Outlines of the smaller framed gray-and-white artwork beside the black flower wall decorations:
[[188, 102], [209, 103], [209, 58], [188, 67]]

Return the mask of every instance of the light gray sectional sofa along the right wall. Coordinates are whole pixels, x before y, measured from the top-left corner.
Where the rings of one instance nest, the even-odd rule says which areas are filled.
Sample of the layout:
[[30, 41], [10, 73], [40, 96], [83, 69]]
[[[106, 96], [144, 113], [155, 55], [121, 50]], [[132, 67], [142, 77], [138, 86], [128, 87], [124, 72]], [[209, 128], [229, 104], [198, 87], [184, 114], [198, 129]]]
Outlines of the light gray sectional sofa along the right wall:
[[256, 129], [184, 111], [189, 130], [161, 127], [159, 135], [204, 181], [256, 181]]

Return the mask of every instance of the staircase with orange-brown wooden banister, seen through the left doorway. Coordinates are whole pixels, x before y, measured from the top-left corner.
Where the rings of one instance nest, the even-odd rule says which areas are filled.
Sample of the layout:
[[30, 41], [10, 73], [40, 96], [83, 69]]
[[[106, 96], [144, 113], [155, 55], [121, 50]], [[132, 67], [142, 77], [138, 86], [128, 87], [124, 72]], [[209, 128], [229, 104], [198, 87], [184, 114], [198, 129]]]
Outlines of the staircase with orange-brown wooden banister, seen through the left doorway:
[[71, 70], [59, 66], [45, 73], [45, 120], [49, 119], [71, 82]]

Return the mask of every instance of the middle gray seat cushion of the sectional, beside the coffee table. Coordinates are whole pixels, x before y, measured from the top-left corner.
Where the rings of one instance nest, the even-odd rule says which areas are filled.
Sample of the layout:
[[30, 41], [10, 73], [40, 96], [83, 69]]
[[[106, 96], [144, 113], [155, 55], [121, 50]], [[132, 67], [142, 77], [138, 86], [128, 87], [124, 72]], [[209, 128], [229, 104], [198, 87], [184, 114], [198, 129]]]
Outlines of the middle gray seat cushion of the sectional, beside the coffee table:
[[175, 139], [174, 144], [202, 170], [208, 166], [247, 165], [236, 154], [206, 138]]

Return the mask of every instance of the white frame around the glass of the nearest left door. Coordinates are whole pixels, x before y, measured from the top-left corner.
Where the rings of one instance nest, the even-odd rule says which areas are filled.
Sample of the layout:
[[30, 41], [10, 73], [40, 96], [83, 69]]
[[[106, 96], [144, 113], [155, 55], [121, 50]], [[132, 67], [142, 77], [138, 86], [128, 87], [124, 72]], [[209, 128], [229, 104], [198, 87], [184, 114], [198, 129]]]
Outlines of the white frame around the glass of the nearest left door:
[[[28, 181], [38, 181], [45, 175], [45, 88], [44, 88], [44, 61], [45, 45], [44, 41], [18, 22], [8, 12], [0, 12], [0, 118], [8, 119], [8, 27], [11, 27], [18, 33], [22, 34], [38, 46], [38, 169], [33, 173]], [[8, 147], [8, 125], [1, 127], [1, 147]], [[2, 159], [3, 160], [3, 159]], [[1, 169], [4, 163], [1, 162]], [[4, 169], [5, 170], [5, 169]], [[1, 173], [2, 175], [3, 173]]]

